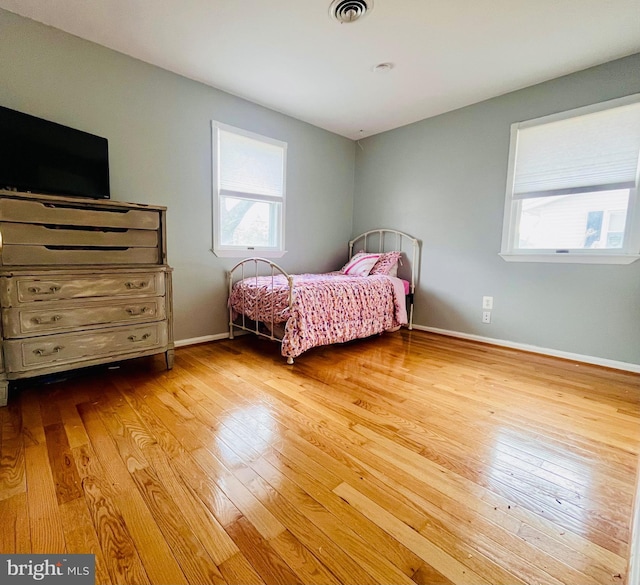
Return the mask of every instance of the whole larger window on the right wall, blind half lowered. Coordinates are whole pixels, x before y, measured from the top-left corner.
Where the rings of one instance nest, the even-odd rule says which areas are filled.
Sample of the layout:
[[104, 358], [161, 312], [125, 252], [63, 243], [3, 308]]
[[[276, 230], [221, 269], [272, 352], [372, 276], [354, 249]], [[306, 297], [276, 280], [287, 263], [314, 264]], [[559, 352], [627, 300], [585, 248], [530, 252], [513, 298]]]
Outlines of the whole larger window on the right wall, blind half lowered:
[[640, 258], [640, 94], [511, 126], [501, 256]]

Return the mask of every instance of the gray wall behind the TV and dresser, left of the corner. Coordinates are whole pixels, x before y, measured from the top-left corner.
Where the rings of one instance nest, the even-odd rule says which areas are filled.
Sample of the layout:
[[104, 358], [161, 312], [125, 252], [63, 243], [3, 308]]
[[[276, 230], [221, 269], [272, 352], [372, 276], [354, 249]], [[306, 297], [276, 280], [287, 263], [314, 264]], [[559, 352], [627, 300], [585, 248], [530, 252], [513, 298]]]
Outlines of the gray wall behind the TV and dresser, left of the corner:
[[168, 208], [177, 340], [226, 330], [235, 262], [210, 252], [211, 119], [289, 144], [278, 262], [323, 271], [346, 259], [352, 141], [2, 10], [0, 80], [1, 105], [108, 138], [113, 199]]

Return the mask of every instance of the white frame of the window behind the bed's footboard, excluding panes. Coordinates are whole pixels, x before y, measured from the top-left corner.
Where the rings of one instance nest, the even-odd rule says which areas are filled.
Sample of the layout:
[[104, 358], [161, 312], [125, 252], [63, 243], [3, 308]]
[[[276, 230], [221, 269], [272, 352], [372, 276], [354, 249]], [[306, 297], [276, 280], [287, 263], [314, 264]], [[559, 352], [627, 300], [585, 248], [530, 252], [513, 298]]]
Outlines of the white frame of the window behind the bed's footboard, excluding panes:
[[[220, 188], [220, 131], [233, 133], [238, 136], [251, 138], [259, 142], [264, 142], [271, 146], [282, 149], [282, 196], [263, 195], [259, 193], [249, 193], [243, 191], [233, 191]], [[216, 120], [211, 120], [211, 162], [212, 162], [212, 252], [222, 258], [250, 258], [261, 256], [263, 258], [281, 258], [286, 254], [285, 250], [285, 202], [287, 183], [287, 147], [288, 144], [282, 140], [277, 140], [269, 136], [264, 136], [256, 132], [251, 132], [243, 128], [224, 124]], [[278, 224], [275, 234], [275, 246], [230, 246], [220, 242], [220, 205], [223, 197], [237, 197], [240, 199], [264, 201], [268, 203], [278, 203], [280, 213], [275, 218]], [[273, 213], [273, 209], [271, 213]]]

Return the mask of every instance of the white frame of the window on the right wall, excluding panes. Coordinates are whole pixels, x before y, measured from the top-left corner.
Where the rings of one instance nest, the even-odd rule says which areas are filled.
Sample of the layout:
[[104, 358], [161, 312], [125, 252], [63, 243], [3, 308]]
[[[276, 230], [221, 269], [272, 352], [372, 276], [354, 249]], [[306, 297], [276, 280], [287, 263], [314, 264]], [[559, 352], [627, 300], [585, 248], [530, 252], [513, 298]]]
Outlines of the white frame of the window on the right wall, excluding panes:
[[507, 262], [555, 262], [581, 264], [630, 264], [640, 259], [640, 164], [636, 174], [636, 187], [629, 189], [629, 201], [624, 232], [623, 248], [587, 249], [524, 249], [517, 247], [517, 228], [521, 214], [522, 198], [514, 197], [518, 132], [533, 126], [541, 126], [584, 116], [629, 104], [640, 104], [640, 94], [599, 102], [588, 106], [542, 116], [511, 124], [509, 163], [502, 228], [500, 256]]

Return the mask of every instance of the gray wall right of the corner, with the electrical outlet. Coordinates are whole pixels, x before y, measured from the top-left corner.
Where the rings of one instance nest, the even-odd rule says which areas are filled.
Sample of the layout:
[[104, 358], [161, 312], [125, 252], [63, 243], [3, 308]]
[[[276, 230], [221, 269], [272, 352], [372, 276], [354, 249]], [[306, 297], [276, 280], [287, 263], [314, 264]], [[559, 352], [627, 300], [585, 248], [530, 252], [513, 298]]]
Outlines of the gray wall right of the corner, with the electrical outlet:
[[511, 123], [636, 92], [640, 55], [360, 141], [353, 233], [387, 225], [422, 240], [416, 323], [640, 364], [640, 261], [498, 256]]

